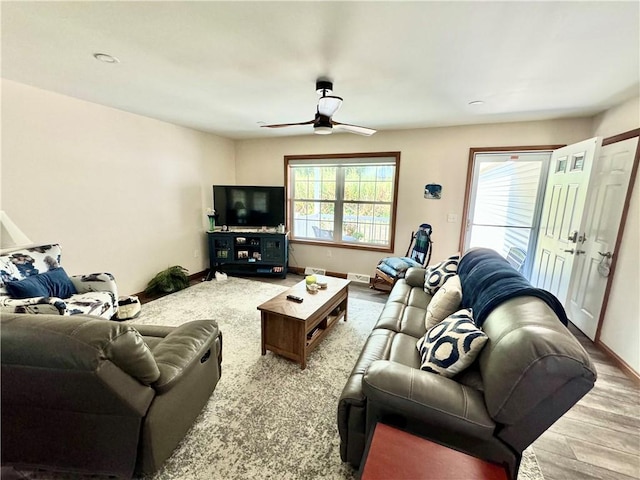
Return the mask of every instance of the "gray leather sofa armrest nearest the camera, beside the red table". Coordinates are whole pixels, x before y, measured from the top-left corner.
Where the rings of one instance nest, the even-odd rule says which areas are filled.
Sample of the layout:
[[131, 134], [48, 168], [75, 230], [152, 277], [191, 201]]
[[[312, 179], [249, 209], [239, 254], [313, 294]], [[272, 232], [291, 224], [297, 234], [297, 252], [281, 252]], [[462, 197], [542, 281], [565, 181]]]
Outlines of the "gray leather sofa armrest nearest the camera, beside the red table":
[[377, 360], [364, 375], [368, 407], [475, 438], [491, 438], [495, 423], [482, 393], [455, 380], [389, 360]]

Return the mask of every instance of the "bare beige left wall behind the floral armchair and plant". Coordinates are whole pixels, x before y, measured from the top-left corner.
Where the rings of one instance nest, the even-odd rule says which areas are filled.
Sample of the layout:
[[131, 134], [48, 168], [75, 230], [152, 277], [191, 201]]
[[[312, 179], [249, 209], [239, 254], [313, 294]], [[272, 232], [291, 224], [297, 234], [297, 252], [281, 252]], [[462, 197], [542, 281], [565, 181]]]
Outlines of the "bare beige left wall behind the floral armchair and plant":
[[171, 265], [208, 267], [205, 211], [213, 183], [235, 182], [234, 148], [2, 81], [2, 210], [33, 242], [59, 242], [67, 273], [111, 272], [122, 294]]

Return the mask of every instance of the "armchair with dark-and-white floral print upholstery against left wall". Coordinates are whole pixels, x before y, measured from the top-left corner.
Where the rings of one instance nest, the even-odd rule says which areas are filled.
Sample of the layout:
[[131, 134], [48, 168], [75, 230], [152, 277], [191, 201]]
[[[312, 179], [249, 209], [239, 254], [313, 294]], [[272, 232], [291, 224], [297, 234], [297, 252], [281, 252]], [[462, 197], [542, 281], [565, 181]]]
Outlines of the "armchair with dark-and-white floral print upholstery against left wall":
[[[118, 289], [110, 273], [72, 275], [71, 295], [59, 298], [43, 295], [30, 298], [12, 298], [16, 283], [35, 275], [46, 275], [56, 270], [56, 277], [67, 279], [60, 268], [61, 248], [58, 244], [18, 247], [0, 255], [0, 311], [11, 313], [53, 313], [59, 315], [93, 315], [110, 320], [118, 310]], [[43, 278], [43, 277], [41, 277]], [[32, 281], [31, 278], [28, 281]], [[47, 279], [47, 282], [50, 280]], [[45, 282], [45, 285], [47, 283]], [[18, 283], [18, 286], [20, 284]], [[66, 289], [68, 290], [68, 289]]]

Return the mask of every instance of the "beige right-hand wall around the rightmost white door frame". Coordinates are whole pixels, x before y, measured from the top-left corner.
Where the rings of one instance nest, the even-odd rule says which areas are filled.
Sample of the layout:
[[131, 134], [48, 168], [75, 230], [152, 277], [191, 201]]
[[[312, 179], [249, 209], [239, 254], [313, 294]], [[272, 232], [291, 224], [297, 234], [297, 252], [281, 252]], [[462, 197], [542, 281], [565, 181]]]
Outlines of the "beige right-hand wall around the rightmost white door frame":
[[[640, 98], [635, 98], [597, 116], [593, 134], [607, 137], [639, 127]], [[632, 188], [600, 341], [640, 375], [640, 175]]]

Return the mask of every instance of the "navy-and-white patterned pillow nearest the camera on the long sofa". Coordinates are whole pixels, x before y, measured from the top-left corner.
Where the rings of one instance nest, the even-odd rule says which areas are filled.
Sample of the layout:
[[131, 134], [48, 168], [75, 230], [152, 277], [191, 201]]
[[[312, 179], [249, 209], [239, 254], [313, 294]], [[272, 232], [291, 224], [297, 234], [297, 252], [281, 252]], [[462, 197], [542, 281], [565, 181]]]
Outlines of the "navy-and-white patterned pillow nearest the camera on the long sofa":
[[473, 363], [488, 338], [474, 323], [470, 309], [458, 310], [416, 343], [420, 368], [451, 378]]

